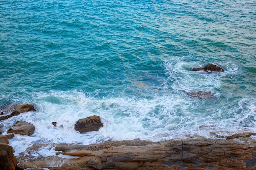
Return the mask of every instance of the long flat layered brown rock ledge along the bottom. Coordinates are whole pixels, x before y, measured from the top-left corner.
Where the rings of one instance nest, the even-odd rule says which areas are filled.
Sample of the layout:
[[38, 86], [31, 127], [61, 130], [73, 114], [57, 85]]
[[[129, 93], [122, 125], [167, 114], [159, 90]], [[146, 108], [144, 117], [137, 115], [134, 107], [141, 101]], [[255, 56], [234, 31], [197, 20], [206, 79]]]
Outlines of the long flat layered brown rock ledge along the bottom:
[[56, 156], [58, 154], [29, 159], [27, 153], [44, 147], [43, 144], [34, 144], [19, 155], [18, 167], [59, 170], [255, 170], [256, 140], [248, 135], [254, 133], [236, 134], [226, 140], [197, 137], [151, 142], [135, 139], [88, 146], [51, 146], [58, 154], [72, 156], [70, 159]]

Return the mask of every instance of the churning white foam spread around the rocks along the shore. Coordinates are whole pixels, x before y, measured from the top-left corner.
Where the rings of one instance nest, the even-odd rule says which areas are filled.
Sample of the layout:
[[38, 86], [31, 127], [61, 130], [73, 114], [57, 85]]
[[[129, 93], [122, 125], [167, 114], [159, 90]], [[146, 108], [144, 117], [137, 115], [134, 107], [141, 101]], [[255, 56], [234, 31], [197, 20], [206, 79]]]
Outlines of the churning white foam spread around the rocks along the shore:
[[[146, 83], [137, 87], [138, 93], [150, 97], [120, 94], [96, 98], [90, 93], [78, 91], [37, 93], [31, 101], [27, 101], [35, 103], [37, 111], [4, 121], [4, 133], [21, 119], [36, 127], [31, 137], [15, 135], [14, 139], [10, 139], [18, 155], [34, 143], [87, 145], [136, 138], [162, 141], [185, 138], [187, 135], [215, 138], [209, 132], [227, 135], [221, 133], [255, 130], [256, 124], [251, 121], [256, 117], [255, 98], [236, 97], [236, 93], [229, 94], [229, 91], [222, 90], [223, 79], [239, 74], [234, 64], [222, 64], [225, 72], [216, 74], [189, 71], [194, 65], [202, 66], [202, 63], [179, 57], [166, 60], [165, 64], [165, 88], [154, 91]], [[215, 97], [195, 99], [188, 97], [187, 91], [211, 91]], [[100, 93], [100, 90], [93, 93]], [[229, 98], [222, 98], [223, 95], [230, 95], [232, 102]], [[100, 116], [104, 127], [84, 134], [74, 130], [77, 120], [91, 115]], [[57, 127], [52, 125], [54, 121]], [[54, 152], [53, 148], [43, 148], [36, 154], [47, 156]]]

